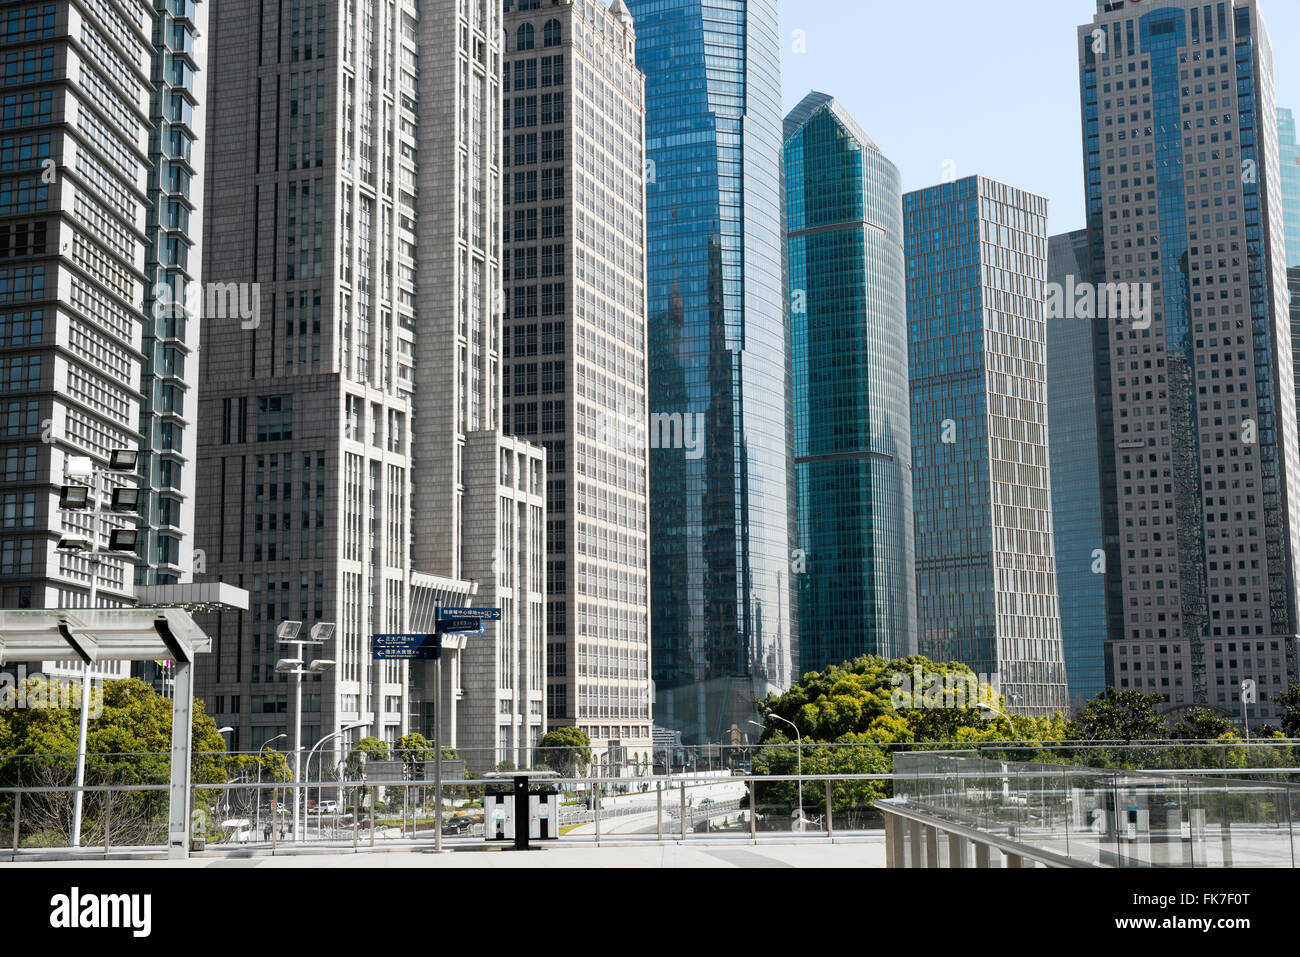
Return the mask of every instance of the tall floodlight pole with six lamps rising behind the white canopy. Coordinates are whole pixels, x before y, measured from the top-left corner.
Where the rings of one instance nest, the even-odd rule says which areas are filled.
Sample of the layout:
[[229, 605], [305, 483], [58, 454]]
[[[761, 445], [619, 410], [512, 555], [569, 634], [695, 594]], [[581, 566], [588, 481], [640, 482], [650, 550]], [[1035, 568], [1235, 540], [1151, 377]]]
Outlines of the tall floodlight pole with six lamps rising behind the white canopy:
[[[75, 551], [90, 559], [90, 594], [86, 605], [95, 609], [99, 605], [99, 564], [105, 558], [126, 559], [129, 553], [134, 557], [139, 532], [134, 528], [117, 528], [109, 534], [108, 549], [101, 550], [100, 520], [104, 518], [104, 497], [101, 493], [101, 478], [107, 472], [135, 472], [138, 452], [131, 449], [117, 449], [108, 459], [108, 468], [95, 465], [88, 455], [72, 455], [64, 462], [64, 476], [66, 478], [81, 478], [88, 481], [86, 485], [64, 485], [58, 492], [58, 511], [83, 511], [94, 508], [91, 518], [91, 537], [62, 538], [58, 542], [60, 551]], [[90, 493], [94, 490], [95, 502], [90, 502]], [[135, 512], [139, 507], [139, 489], [118, 488], [113, 489], [109, 510], [114, 512]], [[74, 848], [81, 846], [81, 820], [82, 798], [86, 787], [86, 735], [90, 718], [90, 662], [82, 662], [82, 694], [81, 694], [81, 720], [77, 729], [77, 791], [73, 794], [73, 840]]]

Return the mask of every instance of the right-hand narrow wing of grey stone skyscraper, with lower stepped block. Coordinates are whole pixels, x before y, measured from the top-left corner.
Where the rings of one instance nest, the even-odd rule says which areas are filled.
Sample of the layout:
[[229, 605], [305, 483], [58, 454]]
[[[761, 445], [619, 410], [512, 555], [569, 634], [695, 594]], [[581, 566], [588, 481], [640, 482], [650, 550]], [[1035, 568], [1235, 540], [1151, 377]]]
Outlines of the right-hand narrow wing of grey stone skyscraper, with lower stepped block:
[[411, 559], [502, 609], [462, 654], [458, 744], [524, 766], [546, 731], [546, 456], [502, 428], [502, 7], [424, 3], [417, 31], [408, 254], [429, 334], [415, 342]]

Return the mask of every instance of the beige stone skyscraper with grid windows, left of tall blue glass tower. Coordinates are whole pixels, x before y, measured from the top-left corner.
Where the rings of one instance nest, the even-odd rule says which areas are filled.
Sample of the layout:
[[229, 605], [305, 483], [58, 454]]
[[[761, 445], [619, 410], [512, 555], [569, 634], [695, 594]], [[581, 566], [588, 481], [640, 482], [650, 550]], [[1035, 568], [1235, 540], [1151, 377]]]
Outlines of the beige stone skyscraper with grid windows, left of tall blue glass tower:
[[547, 452], [547, 720], [645, 768], [645, 78], [621, 4], [504, 0], [503, 22], [503, 421]]

